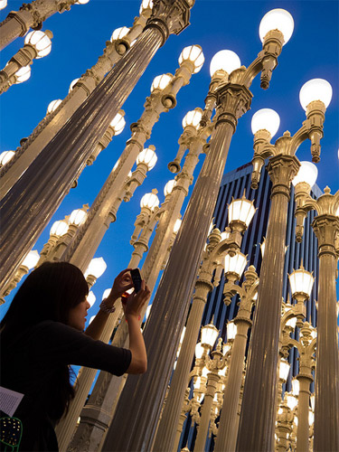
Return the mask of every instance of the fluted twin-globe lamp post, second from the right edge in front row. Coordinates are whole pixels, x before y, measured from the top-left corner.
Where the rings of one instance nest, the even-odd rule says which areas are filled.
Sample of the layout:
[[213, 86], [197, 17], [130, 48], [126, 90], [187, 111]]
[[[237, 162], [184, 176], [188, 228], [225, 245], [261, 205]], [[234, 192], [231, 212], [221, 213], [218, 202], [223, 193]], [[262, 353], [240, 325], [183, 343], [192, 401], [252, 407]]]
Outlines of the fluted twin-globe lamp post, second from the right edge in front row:
[[[327, 88], [330, 87], [325, 80], [324, 82]], [[304, 87], [301, 91], [303, 89]], [[313, 89], [312, 96], [313, 101], [306, 109], [306, 121], [293, 137], [289, 132], [285, 132], [274, 146], [269, 144], [271, 134], [265, 128], [268, 118], [266, 111], [260, 111], [261, 124], [258, 121], [253, 125], [255, 126], [253, 130], [255, 152], [252, 160], [252, 187], [258, 187], [260, 169], [264, 159], [270, 157], [268, 174], [272, 181], [272, 191], [266, 250], [260, 269], [258, 305], [250, 338], [243, 410], [240, 416], [237, 449], [241, 451], [270, 451], [273, 447], [276, 370], [290, 184], [300, 167], [295, 155], [297, 148], [307, 138], [311, 140], [313, 159], [315, 161], [319, 159], [319, 140], [323, 136], [326, 108], [326, 104], [321, 99], [324, 99], [328, 105], [327, 99], [322, 98], [321, 90]], [[258, 116], [257, 119], [259, 119]], [[259, 386], [258, 381], [260, 381]]]

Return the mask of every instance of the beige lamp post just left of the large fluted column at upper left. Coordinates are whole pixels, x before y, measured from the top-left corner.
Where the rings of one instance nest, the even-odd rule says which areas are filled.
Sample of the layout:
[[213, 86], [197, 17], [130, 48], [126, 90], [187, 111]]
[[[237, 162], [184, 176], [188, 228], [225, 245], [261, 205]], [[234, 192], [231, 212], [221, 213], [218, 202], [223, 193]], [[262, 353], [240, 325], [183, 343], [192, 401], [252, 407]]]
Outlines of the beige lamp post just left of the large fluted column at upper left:
[[[26, 171], [27, 167], [32, 164], [34, 158], [40, 154], [43, 147], [48, 143], [52, 137], [61, 129], [66, 121], [71, 118], [75, 110], [80, 107], [80, 104], [89, 96], [93, 89], [99, 84], [108, 71], [121, 59], [121, 46], [119, 46], [119, 53], [116, 49], [116, 43], [123, 43], [124, 48], [129, 48], [129, 36], [134, 36], [134, 39], [143, 31], [146, 21], [152, 13], [151, 0], [143, 2], [140, 7], [140, 16], [136, 17], [133, 26], [127, 30], [117, 29], [113, 32], [115, 39], [106, 42], [103, 55], [99, 56], [97, 63], [86, 71], [80, 79], [74, 82], [74, 86], [69, 91], [68, 96], [63, 99], [58, 108], [46, 115], [45, 118], [34, 128], [33, 133], [28, 137], [24, 143], [20, 143], [16, 151], [14, 161], [11, 165], [0, 172], [2, 184], [0, 187], [0, 197], [3, 198], [21, 174]], [[152, 4], [153, 5], [153, 4]], [[74, 80], [73, 80], [74, 81]], [[72, 82], [73, 84], [73, 82]], [[108, 127], [109, 128], [109, 127]], [[90, 157], [89, 157], [90, 158]]]

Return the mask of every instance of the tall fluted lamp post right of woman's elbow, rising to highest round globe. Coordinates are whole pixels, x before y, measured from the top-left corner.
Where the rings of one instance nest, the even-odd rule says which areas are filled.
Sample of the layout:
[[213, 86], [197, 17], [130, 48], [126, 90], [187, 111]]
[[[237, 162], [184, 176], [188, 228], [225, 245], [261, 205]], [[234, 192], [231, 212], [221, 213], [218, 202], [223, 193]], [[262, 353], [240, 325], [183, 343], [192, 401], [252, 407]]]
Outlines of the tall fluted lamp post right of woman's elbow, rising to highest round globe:
[[[277, 64], [282, 42], [283, 33], [269, 31], [259, 57], [248, 69], [244, 67], [236, 69], [239, 66], [234, 67], [232, 64], [230, 75], [217, 89], [218, 119], [209, 153], [195, 184], [145, 328], [148, 371], [137, 381], [128, 379], [109, 430], [112, 438], [109, 447], [112, 446], [113, 438], [118, 437], [118, 432], [121, 441], [116, 442], [117, 450], [119, 447], [120, 449], [127, 447], [127, 444], [128, 447], [135, 449], [149, 449], [153, 444], [157, 419], [165, 397], [166, 384], [173, 369], [180, 332], [192, 296], [202, 248], [208, 235], [231, 136], [235, 132], [238, 119], [250, 108], [252, 95], [249, 88], [259, 71], [263, 71], [262, 86], [268, 88], [267, 77]], [[168, 287], [171, 287], [171, 291]], [[181, 300], [181, 303], [177, 303], [177, 300]], [[173, 340], [169, 342], [168, 337], [172, 337]], [[136, 394], [132, 403], [127, 397], [130, 391]], [[121, 435], [121, 432], [125, 431], [124, 428], [127, 428], [126, 425], [122, 425], [122, 419], [129, 417], [134, 418], [134, 427], [128, 429], [128, 435]], [[159, 433], [157, 436], [159, 437]], [[107, 443], [103, 450], [108, 450], [109, 447]], [[168, 450], [168, 447], [169, 443], [166, 442], [158, 447], [158, 450]]]

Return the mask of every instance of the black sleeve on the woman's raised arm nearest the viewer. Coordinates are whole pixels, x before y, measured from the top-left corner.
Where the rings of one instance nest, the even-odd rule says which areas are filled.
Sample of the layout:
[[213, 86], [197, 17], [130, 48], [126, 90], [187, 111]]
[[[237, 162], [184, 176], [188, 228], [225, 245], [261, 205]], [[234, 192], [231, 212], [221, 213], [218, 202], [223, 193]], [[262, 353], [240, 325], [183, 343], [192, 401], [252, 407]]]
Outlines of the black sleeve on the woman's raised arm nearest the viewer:
[[91, 367], [119, 376], [127, 371], [132, 359], [129, 350], [95, 341], [59, 322], [42, 322], [35, 334], [39, 338], [36, 352], [45, 353], [44, 357], [60, 363]]

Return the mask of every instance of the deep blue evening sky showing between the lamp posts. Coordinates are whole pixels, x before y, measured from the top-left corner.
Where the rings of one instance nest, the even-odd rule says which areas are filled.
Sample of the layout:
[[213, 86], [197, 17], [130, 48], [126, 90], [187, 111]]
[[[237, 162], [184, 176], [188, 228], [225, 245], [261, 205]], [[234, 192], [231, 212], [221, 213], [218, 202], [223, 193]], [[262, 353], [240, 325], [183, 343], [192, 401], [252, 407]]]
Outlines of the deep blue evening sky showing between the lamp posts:
[[[12, 0], [8, 3], [0, 14], [1, 21], [11, 10], [16, 11], [22, 5], [22, 2]], [[1, 152], [14, 150], [22, 137], [31, 134], [45, 116], [48, 104], [53, 99], [63, 99], [68, 93], [71, 80], [79, 78], [95, 64], [111, 33], [120, 26], [132, 25], [134, 17], [138, 15], [139, 5], [140, 2], [134, 0], [90, 0], [87, 5], [73, 5], [70, 12], [54, 14], [45, 21], [42, 30], [50, 29], [54, 35], [52, 52], [41, 60], [33, 61], [30, 80], [14, 85], [1, 97]], [[270, 88], [266, 91], [260, 89], [259, 77], [252, 84], [254, 98], [251, 110], [240, 118], [237, 132], [231, 141], [226, 172], [251, 160], [253, 136], [250, 120], [259, 108], [273, 108], [280, 116], [280, 128], [274, 140], [285, 130], [294, 134], [306, 119], [305, 111], [299, 103], [300, 88], [307, 80], [324, 78], [332, 84], [334, 95], [325, 115], [325, 137], [322, 140], [317, 184], [322, 190], [328, 184], [332, 193], [335, 193], [339, 189], [338, 5], [336, 0], [197, 0], [192, 10], [191, 25], [180, 35], [170, 36], [123, 106], [127, 127], [121, 135], [113, 138], [94, 165], [85, 168], [78, 187], [66, 196], [33, 249], [42, 250], [53, 221], [63, 219], [83, 203], [93, 202], [130, 137], [130, 124], [142, 114], [155, 76], [166, 72], [174, 73], [183, 48], [200, 44], [205, 55], [202, 71], [193, 75], [190, 84], [181, 89], [177, 96], [177, 106], [161, 116], [152, 137], [146, 143], [155, 145], [157, 164], [132, 200], [122, 204], [118, 220], [111, 225], [97, 252], [96, 257], [102, 256], [108, 264], [106, 273], [93, 287], [97, 299], [101, 298], [103, 290], [111, 285], [118, 272], [127, 267], [133, 251], [129, 239], [140, 212], [141, 197], [156, 188], [160, 202], [164, 201], [164, 185], [173, 178], [173, 174], [167, 170], [167, 164], [176, 155], [184, 115], [193, 108], [203, 108], [210, 82], [209, 65], [212, 56], [222, 49], [230, 49], [238, 53], [242, 64], [248, 66], [261, 50], [260, 20], [270, 9], [277, 7], [285, 8], [293, 15], [295, 30], [278, 59], [278, 68], [273, 72]], [[1, 68], [23, 45], [24, 38], [18, 38], [5, 48]], [[309, 149], [310, 142], [306, 141], [297, 151], [298, 158], [311, 160]], [[196, 179], [197, 171], [194, 175]], [[99, 303], [92, 308], [90, 315], [98, 309]], [[2, 313], [4, 310], [5, 306], [0, 308]]]

